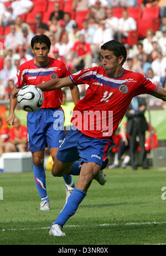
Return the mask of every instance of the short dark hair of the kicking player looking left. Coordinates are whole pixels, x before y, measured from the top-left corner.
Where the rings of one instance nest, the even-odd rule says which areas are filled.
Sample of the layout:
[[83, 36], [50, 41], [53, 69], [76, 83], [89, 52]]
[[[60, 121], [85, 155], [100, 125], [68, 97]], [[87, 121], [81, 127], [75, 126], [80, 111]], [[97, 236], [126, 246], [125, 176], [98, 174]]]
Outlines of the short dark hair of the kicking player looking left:
[[126, 47], [121, 42], [118, 42], [116, 40], [108, 41], [101, 46], [101, 50], [112, 51], [117, 58], [120, 56], [123, 56], [124, 59], [121, 65], [123, 65], [126, 61], [126, 58], [127, 58]]

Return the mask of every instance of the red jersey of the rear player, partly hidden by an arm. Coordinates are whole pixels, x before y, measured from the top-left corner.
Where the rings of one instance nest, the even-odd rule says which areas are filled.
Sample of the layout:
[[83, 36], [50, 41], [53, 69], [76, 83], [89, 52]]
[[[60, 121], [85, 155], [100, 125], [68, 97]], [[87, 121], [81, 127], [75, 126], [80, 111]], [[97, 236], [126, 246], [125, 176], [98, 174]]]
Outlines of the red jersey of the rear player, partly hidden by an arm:
[[[19, 67], [14, 85], [17, 88], [24, 85], [39, 85], [39, 83], [69, 76], [70, 72], [64, 62], [49, 57], [49, 63], [45, 67], [35, 65], [34, 59]], [[43, 92], [44, 103], [41, 109], [56, 109], [60, 107], [63, 99], [61, 89], [56, 91]]]

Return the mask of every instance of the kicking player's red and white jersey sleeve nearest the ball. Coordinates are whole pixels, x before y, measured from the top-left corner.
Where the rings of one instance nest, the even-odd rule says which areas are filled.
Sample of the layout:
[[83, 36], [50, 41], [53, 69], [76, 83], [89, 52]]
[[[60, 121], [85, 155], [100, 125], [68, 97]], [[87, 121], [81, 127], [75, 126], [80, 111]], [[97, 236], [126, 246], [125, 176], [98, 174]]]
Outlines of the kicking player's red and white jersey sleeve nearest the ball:
[[91, 85], [95, 73], [93, 68], [88, 68], [87, 70], [80, 70], [79, 72], [70, 75], [70, 78], [75, 85], [81, 85], [82, 83]]

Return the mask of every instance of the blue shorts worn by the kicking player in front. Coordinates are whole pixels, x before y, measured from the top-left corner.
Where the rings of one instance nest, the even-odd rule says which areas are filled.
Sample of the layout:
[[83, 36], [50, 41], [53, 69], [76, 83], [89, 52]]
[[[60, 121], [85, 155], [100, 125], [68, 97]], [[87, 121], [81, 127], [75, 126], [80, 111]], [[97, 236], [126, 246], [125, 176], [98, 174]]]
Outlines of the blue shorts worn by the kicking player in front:
[[111, 140], [95, 139], [82, 134], [79, 130], [70, 130], [60, 145], [56, 158], [68, 163], [81, 158], [82, 162], [102, 164], [103, 157], [113, 145]]

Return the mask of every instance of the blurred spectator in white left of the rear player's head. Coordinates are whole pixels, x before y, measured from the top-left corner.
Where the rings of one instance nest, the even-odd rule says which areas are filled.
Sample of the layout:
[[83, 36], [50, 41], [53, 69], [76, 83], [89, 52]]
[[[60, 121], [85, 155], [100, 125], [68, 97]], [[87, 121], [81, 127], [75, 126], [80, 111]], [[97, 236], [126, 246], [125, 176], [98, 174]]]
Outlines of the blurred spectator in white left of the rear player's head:
[[14, 24], [11, 24], [10, 30], [11, 32], [6, 36], [4, 40], [4, 47], [10, 47], [15, 50], [18, 45], [23, 45], [23, 34], [16, 32]]

